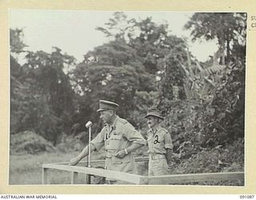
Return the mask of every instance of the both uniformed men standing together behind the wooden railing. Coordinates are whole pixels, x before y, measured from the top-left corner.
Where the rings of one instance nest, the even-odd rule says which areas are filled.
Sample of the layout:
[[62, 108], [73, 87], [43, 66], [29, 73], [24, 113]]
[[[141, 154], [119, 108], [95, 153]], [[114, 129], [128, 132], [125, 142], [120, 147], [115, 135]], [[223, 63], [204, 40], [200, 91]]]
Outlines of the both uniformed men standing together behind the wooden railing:
[[[106, 170], [114, 170], [125, 173], [137, 174], [134, 162], [135, 150], [146, 145], [146, 140], [134, 129], [126, 119], [116, 114], [118, 104], [100, 100], [100, 118], [105, 126], [101, 132], [91, 141], [91, 151], [100, 150], [105, 146]], [[150, 109], [146, 114], [148, 126], [148, 146], [150, 152], [149, 175], [168, 174], [168, 165], [171, 160], [172, 144], [170, 134], [159, 123], [163, 119], [157, 109]], [[89, 154], [86, 146], [77, 157], [70, 160], [70, 165], [76, 165]], [[108, 180], [110, 184], [122, 184], [117, 180]]]

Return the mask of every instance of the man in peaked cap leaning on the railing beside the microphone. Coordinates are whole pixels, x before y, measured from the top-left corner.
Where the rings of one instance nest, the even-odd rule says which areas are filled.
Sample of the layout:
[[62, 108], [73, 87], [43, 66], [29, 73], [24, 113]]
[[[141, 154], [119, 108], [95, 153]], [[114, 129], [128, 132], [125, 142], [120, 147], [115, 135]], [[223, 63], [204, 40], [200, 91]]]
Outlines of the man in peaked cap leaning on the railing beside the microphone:
[[[116, 114], [118, 104], [100, 100], [100, 118], [105, 126], [91, 142], [91, 151], [100, 150], [105, 146], [106, 170], [115, 170], [125, 173], [137, 174], [134, 161], [134, 150], [146, 144], [145, 139], [134, 129], [126, 119], [119, 118]], [[70, 165], [76, 165], [82, 158], [89, 154], [88, 146], [76, 158], [70, 160]], [[117, 180], [109, 180], [110, 184], [122, 184]]]

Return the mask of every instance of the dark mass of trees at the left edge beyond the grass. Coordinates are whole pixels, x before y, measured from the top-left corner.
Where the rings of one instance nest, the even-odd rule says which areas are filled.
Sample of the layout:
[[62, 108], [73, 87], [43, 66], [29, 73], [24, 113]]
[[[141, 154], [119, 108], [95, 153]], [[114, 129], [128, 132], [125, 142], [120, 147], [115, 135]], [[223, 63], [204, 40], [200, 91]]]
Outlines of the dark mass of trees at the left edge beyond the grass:
[[[51, 54], [24, 47], [22, 30], [10, 30], [10, 130], [34, 130], [55, 144], [71, 126], [74, 91], [67, 68], [75, 61], [57, 47]], [[26, 63], [21, 66], [22, 52]]]

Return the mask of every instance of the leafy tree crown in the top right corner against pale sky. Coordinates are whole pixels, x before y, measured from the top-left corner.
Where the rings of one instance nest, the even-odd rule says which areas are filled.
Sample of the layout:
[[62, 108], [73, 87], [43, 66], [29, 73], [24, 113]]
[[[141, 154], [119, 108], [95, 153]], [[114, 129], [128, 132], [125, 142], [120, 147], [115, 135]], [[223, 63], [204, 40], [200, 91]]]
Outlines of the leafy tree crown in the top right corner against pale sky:
[[246, 13], [196, 13], [185, 28], [192, 30], [193, 41], [216, 38], [219, 52], [224, 55], [221, 64], [225, 65], [231, 60], [233, 46], [246, 44], [246, 18]]

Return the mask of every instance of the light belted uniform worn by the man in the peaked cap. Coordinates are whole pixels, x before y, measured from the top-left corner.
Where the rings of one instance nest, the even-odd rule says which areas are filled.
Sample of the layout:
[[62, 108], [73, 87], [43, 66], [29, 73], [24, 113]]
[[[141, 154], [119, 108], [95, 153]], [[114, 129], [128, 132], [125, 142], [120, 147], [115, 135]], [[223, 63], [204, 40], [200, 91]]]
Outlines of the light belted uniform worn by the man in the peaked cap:
[[[126, 119], [117, 117], [113, 125], [106, 125], [101, 132], [92, 140], [91, 144], [96, 150], [102, 146], [106, 149], [106, 169], [117, 170], [136, 174], [134, 155], [128, 154], [124, 158], [116, 158], [114, 154], [118, 150], [124, 150], [132, 143], [145, 145], [146, 141]], [[127, 166], [128, 165], [128, 166]]]

